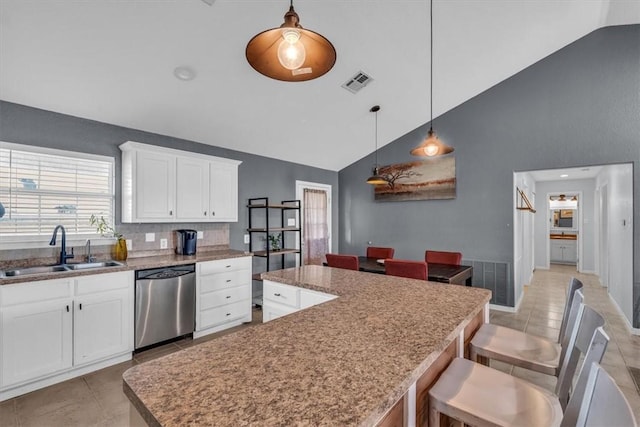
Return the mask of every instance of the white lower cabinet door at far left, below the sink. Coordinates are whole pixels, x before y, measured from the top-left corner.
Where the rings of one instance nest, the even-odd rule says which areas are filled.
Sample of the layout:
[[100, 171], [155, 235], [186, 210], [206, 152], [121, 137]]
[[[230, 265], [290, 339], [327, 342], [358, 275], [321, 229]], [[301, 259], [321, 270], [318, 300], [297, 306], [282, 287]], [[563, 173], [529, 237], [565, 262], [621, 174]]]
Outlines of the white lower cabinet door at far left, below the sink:
[[2, 309], [2, 386], [71, 367], [71, 300]]

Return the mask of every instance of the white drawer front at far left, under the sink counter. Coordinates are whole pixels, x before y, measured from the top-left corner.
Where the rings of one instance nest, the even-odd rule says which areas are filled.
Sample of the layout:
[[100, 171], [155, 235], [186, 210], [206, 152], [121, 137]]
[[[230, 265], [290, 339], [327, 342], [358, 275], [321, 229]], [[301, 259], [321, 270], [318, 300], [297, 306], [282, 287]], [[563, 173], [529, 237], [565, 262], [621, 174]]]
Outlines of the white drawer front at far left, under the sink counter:
[[71, 298], [72, 283], [72, 278], [64, 278], [0, 286], [0, 302], [3, 307], [6, 307], [29, 302]]

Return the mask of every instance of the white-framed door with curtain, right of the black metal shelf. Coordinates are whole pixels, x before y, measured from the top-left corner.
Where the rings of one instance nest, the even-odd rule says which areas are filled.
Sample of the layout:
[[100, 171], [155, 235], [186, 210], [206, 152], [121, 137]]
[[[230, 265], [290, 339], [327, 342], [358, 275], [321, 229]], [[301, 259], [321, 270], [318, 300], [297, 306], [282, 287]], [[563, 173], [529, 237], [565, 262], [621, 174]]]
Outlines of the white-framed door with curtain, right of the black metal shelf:
[[299, 265], [322, 265], [331, 252], [331, 185], [296, 181], [296, 199], [301, 202], [302, 223]]

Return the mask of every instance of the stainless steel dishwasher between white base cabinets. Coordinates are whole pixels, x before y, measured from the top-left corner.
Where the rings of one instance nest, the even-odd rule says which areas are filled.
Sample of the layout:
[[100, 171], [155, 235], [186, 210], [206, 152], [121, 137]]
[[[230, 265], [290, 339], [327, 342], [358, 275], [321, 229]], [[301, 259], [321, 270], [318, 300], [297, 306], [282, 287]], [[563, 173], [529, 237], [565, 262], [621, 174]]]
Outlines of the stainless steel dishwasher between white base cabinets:
[[195, 271], [195, 264], [136, 271], [136, 350], [193, 332]]

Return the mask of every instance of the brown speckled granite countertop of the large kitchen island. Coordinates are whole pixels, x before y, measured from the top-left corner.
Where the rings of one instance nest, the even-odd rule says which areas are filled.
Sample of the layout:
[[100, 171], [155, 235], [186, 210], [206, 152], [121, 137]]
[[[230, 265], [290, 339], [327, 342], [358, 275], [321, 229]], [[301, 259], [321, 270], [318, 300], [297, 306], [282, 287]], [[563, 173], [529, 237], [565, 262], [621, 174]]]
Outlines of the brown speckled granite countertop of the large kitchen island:
[[127, 370], [149, 425], [375, 425], [491, 297], [321, 266], [262, 276], [339, 298]]

